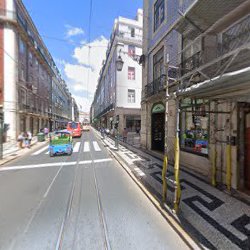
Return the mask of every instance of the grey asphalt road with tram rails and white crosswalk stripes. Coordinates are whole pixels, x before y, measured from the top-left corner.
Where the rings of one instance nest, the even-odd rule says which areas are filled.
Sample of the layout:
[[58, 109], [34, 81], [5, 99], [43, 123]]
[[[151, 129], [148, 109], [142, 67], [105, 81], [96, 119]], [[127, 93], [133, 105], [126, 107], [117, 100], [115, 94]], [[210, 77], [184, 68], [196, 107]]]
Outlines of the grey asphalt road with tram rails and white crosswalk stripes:
[[101, 140], [0, 168], [0, 249], [188, 249]]

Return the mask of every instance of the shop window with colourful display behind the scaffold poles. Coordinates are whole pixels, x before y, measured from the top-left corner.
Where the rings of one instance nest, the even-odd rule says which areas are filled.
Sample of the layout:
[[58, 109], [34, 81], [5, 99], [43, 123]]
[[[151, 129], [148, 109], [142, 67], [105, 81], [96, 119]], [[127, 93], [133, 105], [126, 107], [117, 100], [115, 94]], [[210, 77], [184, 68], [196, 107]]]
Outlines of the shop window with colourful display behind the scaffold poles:
[[208, 155], [209, 104], [203, 99], [185, 99], [181, 103], [181, 149]]

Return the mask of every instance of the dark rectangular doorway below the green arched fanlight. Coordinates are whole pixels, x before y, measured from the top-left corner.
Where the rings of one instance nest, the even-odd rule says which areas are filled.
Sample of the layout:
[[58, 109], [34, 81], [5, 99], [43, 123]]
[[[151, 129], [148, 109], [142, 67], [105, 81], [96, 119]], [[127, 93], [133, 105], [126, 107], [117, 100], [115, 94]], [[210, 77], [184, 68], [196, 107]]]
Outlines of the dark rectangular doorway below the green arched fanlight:
[[165, 113], [152, 114], [152, 150], [164, 152]]

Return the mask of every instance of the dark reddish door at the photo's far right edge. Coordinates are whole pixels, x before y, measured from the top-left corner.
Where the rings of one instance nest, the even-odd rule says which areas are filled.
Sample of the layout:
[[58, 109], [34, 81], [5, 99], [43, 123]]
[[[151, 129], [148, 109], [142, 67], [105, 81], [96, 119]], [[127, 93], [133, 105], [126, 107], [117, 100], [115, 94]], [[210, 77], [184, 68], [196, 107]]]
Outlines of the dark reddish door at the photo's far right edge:
[[246, 114], [245, 127], [245, 188], [250, 190], [250, 113]]

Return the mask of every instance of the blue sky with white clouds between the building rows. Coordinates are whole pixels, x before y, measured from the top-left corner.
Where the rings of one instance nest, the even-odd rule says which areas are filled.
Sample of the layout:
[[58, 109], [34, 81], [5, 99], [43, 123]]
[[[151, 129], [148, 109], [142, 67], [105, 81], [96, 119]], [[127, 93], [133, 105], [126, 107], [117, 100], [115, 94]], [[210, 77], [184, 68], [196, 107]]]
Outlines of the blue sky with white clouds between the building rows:
[[70, 92], [87, 112], [115, 18], [135, 18], [143, 6], [143, 0], [92, 0], [89, 29], [90, 2], [23, 0]]

